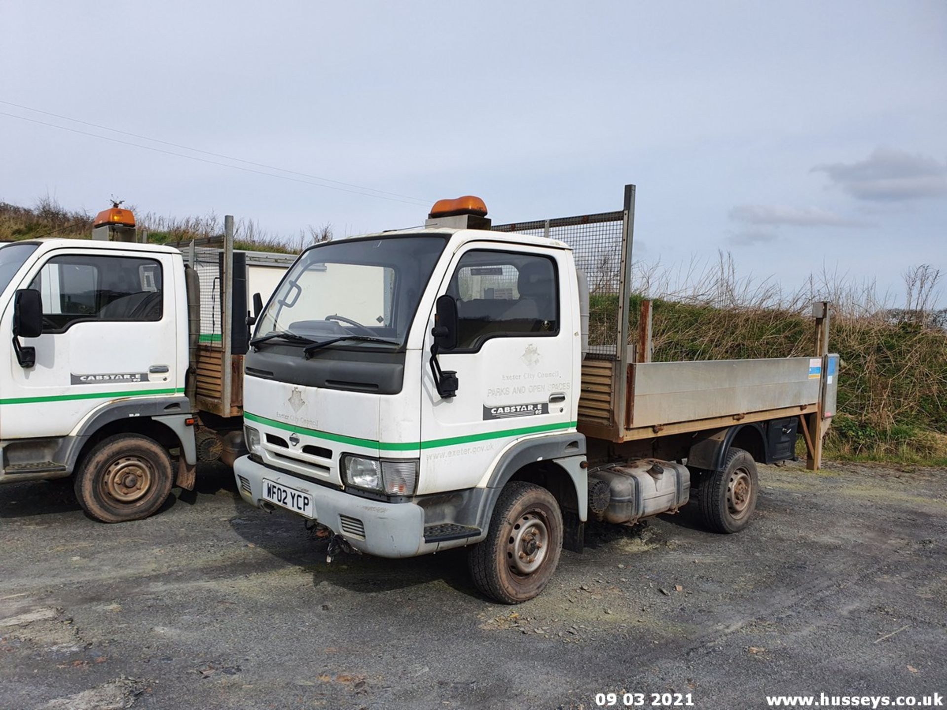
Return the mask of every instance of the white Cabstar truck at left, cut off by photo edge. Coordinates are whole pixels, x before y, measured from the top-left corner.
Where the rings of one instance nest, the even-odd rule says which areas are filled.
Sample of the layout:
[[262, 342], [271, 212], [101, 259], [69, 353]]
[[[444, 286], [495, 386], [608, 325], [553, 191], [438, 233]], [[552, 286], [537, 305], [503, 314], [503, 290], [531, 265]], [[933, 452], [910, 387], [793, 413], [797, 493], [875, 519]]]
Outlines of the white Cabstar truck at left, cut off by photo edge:
[[74, 476], [117, 523], [244, 451], [247, 285], [270, 293], [295, 257], [234, 252], [231, 218], [223, 248], [184, 253], [140, 243], [117, 204], [94, 223], [0, 246], [0, 484]]

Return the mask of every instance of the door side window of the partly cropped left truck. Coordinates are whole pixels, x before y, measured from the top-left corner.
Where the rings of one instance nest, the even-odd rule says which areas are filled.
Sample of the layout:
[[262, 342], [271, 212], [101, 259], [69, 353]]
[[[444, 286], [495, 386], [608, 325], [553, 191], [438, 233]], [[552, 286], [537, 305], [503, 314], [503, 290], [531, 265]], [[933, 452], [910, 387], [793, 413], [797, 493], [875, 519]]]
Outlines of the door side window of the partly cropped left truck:
[[43, 331], [85, 321], [159, 321], [161, 264], [150, 258], [52, 257], [33, 283], [43, 295]]

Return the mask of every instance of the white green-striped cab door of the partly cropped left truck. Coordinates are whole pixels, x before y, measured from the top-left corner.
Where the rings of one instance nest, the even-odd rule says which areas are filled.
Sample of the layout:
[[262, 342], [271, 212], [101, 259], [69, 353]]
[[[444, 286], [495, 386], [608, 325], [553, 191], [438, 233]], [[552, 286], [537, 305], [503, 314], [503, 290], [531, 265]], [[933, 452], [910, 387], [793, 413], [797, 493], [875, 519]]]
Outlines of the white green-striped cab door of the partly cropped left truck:
[[44, 329], [22, 339], [33, 367], [9, 358], [0, 437], [69, 435], [109, 401], [178, 392], [171, 255], [103, 252], [50, 252], [19, 284], [42, 294]]

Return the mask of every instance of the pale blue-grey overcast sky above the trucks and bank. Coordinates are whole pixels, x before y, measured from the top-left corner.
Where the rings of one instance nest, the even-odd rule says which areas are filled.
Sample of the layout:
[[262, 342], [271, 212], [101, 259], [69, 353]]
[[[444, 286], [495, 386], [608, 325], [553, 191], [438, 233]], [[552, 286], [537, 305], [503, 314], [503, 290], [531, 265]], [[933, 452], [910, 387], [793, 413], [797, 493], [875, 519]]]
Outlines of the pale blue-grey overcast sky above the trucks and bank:
[[947, 4], [0, 3], [3, 202], [342, 235], [626, 183], [648, 262], [947, 274]]

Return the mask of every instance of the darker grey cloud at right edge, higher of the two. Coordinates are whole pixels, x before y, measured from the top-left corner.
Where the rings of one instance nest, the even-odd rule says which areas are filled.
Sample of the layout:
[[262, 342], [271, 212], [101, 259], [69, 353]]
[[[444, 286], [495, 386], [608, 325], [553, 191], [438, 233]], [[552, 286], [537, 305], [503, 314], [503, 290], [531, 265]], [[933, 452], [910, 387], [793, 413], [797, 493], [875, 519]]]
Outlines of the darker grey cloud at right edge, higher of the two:
[[852, 197], [876, 202], [901, 202], [947, 196], [947, 162], [920, 153], [875, 149], [857, 163], [817, 165]]

